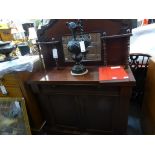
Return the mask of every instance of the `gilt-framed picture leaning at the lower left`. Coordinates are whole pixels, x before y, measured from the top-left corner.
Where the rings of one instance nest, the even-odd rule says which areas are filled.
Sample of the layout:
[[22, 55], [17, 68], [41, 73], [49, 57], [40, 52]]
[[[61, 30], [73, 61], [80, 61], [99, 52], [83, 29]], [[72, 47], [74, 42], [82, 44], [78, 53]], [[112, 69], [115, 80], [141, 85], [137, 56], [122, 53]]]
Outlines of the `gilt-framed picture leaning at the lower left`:
[[31, 134], [24, 98], [0, 98], [0, 135]]

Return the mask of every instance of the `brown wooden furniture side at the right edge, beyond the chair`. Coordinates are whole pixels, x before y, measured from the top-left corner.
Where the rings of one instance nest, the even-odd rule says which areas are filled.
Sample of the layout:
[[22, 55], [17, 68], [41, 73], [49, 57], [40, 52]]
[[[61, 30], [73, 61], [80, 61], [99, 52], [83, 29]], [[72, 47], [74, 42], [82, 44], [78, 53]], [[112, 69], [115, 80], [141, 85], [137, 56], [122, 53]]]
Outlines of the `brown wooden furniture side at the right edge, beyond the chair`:
[[145, 82], [145, 94], [143, 102], [142, 127], [145, 134], [155, 134], [155, 58], [149, 60], [147, 77]]

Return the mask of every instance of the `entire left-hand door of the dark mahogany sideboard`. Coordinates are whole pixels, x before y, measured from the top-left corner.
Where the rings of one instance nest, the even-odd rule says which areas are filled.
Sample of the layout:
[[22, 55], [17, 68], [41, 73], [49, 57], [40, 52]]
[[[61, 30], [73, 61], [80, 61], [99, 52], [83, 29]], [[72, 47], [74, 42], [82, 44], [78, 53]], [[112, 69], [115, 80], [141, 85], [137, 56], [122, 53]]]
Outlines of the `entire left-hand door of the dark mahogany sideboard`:
[[78, 98], [75, 95], [41, 95], [39, 98], [48, 125], [68, 129], [79, 127], [80, 112]]

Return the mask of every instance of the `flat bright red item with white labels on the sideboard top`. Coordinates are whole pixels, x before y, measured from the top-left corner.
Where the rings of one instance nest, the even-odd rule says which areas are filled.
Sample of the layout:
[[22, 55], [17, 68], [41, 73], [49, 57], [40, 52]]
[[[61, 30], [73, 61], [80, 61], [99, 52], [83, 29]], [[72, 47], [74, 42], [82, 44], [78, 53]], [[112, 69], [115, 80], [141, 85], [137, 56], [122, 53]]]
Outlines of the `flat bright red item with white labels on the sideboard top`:
[[122, 66], [99, 67], [99, 80], [124, 80], [129, 76]]

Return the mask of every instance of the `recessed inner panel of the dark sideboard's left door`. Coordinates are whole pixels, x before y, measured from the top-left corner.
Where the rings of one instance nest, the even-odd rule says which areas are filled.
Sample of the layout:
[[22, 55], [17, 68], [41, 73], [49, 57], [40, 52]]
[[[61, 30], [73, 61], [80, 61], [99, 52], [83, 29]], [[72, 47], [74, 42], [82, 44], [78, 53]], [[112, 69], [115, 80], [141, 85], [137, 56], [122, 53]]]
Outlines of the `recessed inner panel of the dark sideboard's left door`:
[[79, 124], [78, 98], [73, 95], [50, 95], [50, 108], [53, 109], [56, 125], [77, 127]]

